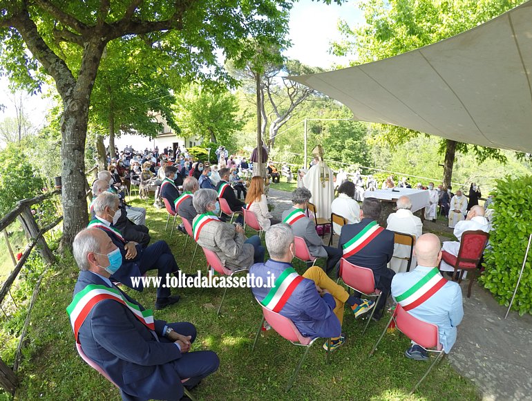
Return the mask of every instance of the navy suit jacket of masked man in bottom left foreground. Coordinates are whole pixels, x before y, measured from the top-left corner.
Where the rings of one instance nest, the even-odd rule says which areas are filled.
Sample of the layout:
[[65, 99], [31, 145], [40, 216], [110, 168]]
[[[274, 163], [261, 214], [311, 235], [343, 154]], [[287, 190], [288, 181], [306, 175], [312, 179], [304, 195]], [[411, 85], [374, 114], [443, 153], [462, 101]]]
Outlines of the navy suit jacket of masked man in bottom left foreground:
[[[74, 295], [89, 284], [108, 286], [96, 274], [82, 271]], [[144, 310], [124, 292], [122, 295]], [[129, 308], [104, 299], [86, 317], [79, 328], [78, 339], [84, 353], [101, 366], [124, 393], [146, 400], [180, 400], [181, 379], [173, 364], [181, 353], [175, 344], [162, 337], [166, 324], [164, 320], [155, 320], [153, 332]]]

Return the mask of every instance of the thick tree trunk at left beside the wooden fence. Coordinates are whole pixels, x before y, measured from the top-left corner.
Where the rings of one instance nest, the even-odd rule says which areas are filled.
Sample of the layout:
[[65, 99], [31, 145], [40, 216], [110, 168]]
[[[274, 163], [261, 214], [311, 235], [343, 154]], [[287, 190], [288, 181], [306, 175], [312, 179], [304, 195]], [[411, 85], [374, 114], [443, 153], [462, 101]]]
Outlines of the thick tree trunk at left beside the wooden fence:
[[[74, 88], [60, 93], [64, 111], [61, 117], [61, 178], [63, 189], [63, 236], [61, 248], [70, 248], [76, 234], [88, 223], [85, 193], [85, 140], [90, 94], [105, 44], [95, 38], [84, 44], [82, 66]], [[57, 85], [60, 87], [60, 85]]]

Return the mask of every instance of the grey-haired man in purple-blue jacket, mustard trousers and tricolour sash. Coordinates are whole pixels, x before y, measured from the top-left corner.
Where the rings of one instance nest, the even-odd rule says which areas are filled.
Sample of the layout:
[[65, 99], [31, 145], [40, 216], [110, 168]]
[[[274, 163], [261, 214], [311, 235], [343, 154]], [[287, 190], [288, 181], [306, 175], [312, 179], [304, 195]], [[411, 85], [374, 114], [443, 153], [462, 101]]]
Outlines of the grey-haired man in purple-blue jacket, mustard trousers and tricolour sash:
[[[273, 282], [279, 285], [253, 287], [251, 290], [254, 297], [263, 305], [267, 303], [264, 305], [267, 308], [292, 320], [305, 337], [332, 338], [332, 351], [343, 345], [345, 335], [341, 333], [341, 326], [345, 304], [350, 306], [355, 317], [368, 312], [370, 308], [359, 307], [363, 301], [349, 295], [342, 286], [327, 277], [319, 266], [307, 269], [303, 276], [295, 272], [292, 268], [292, 259], [296, 252], [294, 232], [288, 224], [272, 225], [266, 231], [265, 240], [270, 259], [266, 263], [256, 263], [251, 266], [249, 274], [253, 274], [255, 278], [260, 277], [266, 285], [269, 282], [272, 283], [269, 277], [273, 275]], [[290, 280], [291, 276], [294, 282], [299, 281], [299, 283], [292, 290], [293, 292], [285, 292], [287, 301], [284, 305], [272, 305], [269, 301], [265, 301], [276, 291], [277, 287], [286, 286], [287, 283], [285, 284], [284, 281], [277, 283], [279, 277], [286, 277], [285, 280]], [[276, 297], [281, 297], [281, 294], [277, 294]], [[323, 344], [323, 348], [327, 349], [327, 342]]]

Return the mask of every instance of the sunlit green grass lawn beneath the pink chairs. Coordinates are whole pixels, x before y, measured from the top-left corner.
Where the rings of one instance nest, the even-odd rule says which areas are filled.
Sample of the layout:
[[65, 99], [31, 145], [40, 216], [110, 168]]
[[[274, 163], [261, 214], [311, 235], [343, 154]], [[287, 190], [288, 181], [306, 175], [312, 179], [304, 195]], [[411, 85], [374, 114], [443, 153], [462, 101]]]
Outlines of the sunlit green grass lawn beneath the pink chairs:
[[[287, 185], [285, 183], [285, 185]], [[275, 185], [273, 186], [275, 187]], [[135, 205], [146, 205], [135, 201]], [[174, 231], [172, 239], [164, 232], [167, 212], [148, 208], [153, 240], [169, 242], [184, 272], [205, 272], [205, 257], [198, 252], [191, 266], [193, 246]], [[300, 272], [303, 264], [297, 265]], [[72, 299], [77, 267], [71, 257], [55, 266], [55, 274], [43, 283], [32, 313], [28, 342], [19, 370], [21, 385], [18, 400], [120, 400], [117, 389], [86, 365], [75, 351], [66, 306]], [[219, 371], [204, 380], [193, 394], [199, 400], [477, 400], [479, 393], [472, 382], [460, 377], [444, 360], [435, 367], [415, 395], [408, 393], [427, 368], [426, 362], [403, 357], [410, 341], [396, 332], [386, 335], [374, 357], [368, 357], [374, 342], [388, 321], [383, 317], [371, 322], [361, 337], [365, 321], [345, 313], [343, 330], [348, 342], [325, 364], [323, 341], [314, 344], [301, 373], [289, 393], [287, 380], [303, 355], [297, 347], [269, 330], [260, 337], [254, 353], [251, 344], [260, 322], [260, 308], [248, 289], [227, 290], [222, 314], [216, 308], [222, 289], [173, 290], [182, 297], [168, 309], [156, 311], [155, 317], [167, 321], [191, 321], [198, 328], [193, 349], [211, 349], [220, 356]], [[155, 289], [128, 291], [146, 308], [153, 307]], [[1, 397], [0, 397], [1, 399]]]

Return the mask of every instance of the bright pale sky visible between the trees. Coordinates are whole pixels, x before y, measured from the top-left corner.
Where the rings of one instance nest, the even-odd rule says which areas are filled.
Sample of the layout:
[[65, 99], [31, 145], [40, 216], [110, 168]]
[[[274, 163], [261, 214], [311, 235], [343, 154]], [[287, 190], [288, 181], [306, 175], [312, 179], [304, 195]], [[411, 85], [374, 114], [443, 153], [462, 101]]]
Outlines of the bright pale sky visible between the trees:
[[[333, 64], [347, 65], [349, 59], [329, 54], [330, 42], [340, 39], [337, 28], [339, 19], [345, 19], [350, 26], [361, 24], [363, 18], [357, 2], [348, 0], [339, 6], [336, 3], [327, 5], [319, 1], [298, 1], [290, 12], [289, 39], [292, 47], [285, 51], [285, 55], [308, 66], [325, 69]], [[15, 115], [8, 96], [8, 80], [0, 77], [0, 97], [7, 106], [5, 111], [0, 112], [0, 120]], [[50, 100], [38, 95], [28, 98], [26, 113], [32, 124], [42, 126], [44, 114], [50, 105]]]

